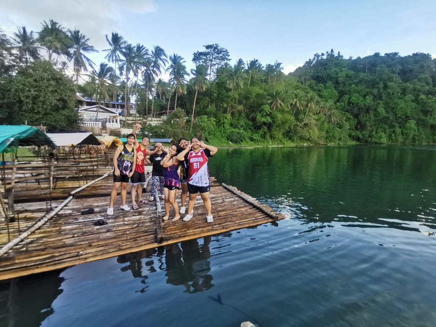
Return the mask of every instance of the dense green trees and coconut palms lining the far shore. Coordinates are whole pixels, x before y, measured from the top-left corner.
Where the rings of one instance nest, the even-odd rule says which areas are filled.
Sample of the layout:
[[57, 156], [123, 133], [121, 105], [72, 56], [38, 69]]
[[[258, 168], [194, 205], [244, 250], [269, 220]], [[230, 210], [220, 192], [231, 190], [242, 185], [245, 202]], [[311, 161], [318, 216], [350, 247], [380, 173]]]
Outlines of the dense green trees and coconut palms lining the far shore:
[[[285, 75], [279, 61], [231, 60], [223, 46], [207, 44], [193, 53], [188, 72], [190, 58], [158, 45], [113, 32], [106, 41], [107, 62], [94, 63], [89, 38], [52, 19], [36, 32], [0, 29], [2, 122], [78, 130], [78, 92], [104, 106], [125, 102], [128, 116], [134, 102], [141, 132], [155, 138], [198, 135], [215, 146], [246, 147], [436, 143], [436, 59], [429, 54], [344, 58], [330, 50]], [[156, 113], [166, 116], [163, 124], [147, 124]]]

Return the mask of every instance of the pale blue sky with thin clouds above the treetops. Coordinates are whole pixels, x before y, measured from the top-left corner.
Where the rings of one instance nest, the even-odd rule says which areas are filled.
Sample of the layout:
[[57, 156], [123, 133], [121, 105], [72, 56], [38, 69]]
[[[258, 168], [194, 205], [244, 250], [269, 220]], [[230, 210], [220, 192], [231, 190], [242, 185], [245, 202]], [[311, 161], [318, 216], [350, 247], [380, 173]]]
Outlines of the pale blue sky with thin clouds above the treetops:
[[0, 28], [10, 36], [19, 26], [36, 33], [50, 19], [77, 28], [100, 51], [89, 55], [97, 66], [105, 61], [105, 35], [116, 32], [180, 55], [188, 71], [194, 52], [218, 43], [232, 65], [239, 58], [264, 66], [277, 60], [289, 73], [331, 49], [345, 58], [376, 52], [436, 58], [435, 12], [434, 0], [0, 0]]

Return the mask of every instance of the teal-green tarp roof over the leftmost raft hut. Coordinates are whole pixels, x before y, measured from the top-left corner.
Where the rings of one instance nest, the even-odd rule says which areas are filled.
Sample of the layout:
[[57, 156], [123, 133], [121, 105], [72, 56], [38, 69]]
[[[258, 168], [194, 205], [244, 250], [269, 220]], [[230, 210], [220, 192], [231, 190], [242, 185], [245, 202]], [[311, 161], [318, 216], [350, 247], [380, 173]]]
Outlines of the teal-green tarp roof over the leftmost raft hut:
[[49, 146], [56, 145], [51, 138], [38, 127], [24, 125], [0, 125], [0, 153], [8, 152], [8, 147]]

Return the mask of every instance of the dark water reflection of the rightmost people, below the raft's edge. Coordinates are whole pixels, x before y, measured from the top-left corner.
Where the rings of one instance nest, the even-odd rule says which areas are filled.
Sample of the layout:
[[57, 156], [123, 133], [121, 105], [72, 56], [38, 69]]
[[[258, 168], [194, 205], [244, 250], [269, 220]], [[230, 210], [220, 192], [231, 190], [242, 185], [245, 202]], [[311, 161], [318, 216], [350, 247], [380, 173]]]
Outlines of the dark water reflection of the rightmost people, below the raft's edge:
[[211, 237], [205, 237], [203, 245], [197, 240], [181, 242], [181, 250], [177, 244], [167, 247], [165, 260], [167, 264], [167, 283], [184, 285], [186, 292], [196, 293], [210, 289], [212, 284]]

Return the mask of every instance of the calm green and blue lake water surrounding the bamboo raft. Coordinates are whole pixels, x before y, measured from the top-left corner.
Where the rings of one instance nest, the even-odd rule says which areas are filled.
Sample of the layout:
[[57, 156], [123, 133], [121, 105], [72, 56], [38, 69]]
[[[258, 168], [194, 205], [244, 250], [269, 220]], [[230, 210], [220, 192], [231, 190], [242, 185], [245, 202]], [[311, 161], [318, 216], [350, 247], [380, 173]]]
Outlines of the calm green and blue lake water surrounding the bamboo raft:
[[436, 148], [210, 160], [288, 219], [2, 282], [0, 325], [436, 325]]

